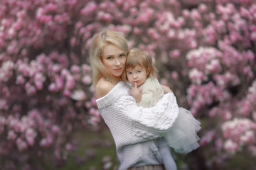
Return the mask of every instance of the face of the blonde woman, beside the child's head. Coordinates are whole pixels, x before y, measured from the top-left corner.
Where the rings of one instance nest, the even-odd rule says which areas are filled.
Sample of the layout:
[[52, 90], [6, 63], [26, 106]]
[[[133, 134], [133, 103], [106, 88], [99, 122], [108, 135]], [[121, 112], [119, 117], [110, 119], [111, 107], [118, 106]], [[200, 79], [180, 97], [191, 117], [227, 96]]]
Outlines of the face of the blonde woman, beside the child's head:
[[119, 79], [124, 71], [126, 54], [124, 50], [113, 44], [107, 44], [103, 47], [102, 63], [113, 77]]

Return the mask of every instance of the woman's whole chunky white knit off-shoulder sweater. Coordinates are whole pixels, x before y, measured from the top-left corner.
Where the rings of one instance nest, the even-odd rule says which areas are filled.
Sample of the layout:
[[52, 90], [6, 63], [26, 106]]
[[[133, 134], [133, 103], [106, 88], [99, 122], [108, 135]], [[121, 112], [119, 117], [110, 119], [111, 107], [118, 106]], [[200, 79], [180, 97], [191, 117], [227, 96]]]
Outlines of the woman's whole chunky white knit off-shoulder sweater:
[[162, 137], [177, 118], [178, 105], [174, 94], [164, 95], [154, 107], [142, 108], [129, 96], [129, 86], [120, 81], [96, 102], [114, 137], [119, 170], [162, 164], [153, 140]]

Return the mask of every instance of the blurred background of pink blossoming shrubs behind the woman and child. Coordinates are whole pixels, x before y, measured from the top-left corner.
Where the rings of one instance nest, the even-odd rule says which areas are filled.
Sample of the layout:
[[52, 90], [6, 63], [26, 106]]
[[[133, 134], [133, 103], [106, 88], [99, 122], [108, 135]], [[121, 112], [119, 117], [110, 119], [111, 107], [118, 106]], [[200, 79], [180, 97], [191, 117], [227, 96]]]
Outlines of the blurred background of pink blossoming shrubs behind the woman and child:
[[89, 61], [107, 29], [201, 121], [179, 169], [256, 168], [255, 0], [1, 0], [0, 169], [117, 169]]

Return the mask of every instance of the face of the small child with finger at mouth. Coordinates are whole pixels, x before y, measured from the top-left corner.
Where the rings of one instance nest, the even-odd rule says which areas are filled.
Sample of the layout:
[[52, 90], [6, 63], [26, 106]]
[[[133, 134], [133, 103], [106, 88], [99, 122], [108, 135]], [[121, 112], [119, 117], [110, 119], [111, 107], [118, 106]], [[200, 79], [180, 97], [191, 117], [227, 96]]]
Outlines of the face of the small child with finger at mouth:
[[135, 82], [137, 82], [137, 86], [144, 84], [149, 74], [146, 71], [146, 68], [141, 67], [140, 65], [137, 65], [134, 68], [125, 69], [125, 71], [129, 83], [134, 85]]

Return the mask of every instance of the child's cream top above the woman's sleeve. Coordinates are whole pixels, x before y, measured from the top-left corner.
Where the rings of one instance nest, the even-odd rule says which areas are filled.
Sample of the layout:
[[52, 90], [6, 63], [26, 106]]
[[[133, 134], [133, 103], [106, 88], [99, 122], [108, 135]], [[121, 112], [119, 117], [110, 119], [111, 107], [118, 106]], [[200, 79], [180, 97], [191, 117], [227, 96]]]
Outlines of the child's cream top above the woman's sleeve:
[[164, 90], [157, 79], [146, 79], [139, 89], [142, 89], [142, 101], [138, 105], [143, 108], [154, 106], [164, 96]]

